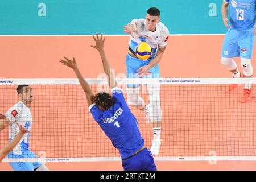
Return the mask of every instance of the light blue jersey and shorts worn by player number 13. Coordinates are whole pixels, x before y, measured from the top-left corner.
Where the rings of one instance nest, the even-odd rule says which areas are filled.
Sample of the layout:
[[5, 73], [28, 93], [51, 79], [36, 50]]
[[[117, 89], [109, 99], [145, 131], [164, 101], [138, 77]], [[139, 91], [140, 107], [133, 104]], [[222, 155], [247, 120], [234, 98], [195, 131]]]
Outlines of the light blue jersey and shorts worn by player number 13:
[[225, 0], [229, 3], [230, 19], [222, 46], [222, 57], [251, 59], [254, 46], [255, 1]]

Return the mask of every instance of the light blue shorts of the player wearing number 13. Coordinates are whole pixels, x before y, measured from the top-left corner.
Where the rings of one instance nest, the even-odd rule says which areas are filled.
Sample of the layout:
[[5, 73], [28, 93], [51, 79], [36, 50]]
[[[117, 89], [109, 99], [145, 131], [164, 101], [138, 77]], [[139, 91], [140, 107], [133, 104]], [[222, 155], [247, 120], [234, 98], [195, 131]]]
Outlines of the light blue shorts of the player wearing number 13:
[[253, 31], [228, 29], [222, 46], [222, 57], [239, 57], [251, 59], [254, 46]]

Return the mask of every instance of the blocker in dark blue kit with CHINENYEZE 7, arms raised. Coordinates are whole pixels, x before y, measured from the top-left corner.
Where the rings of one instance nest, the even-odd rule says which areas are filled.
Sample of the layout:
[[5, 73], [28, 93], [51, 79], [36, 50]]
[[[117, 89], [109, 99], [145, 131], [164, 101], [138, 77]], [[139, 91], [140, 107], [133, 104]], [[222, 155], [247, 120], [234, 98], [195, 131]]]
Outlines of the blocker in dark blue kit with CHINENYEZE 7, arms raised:
[[122, 158], [122, 166], [124, 170], [130, 171], [155, 171], [156, 166], [154, 158], [145, 146], [144, 139], [138, 128], [138, 121], [131, 113], [126, 104], [121, 88], [115, 87], [117, 82], [110, 71], [108, 60], [104, 51], [105, 38], [96, 38], [93, 48], [100, 53], [104, 72], [107, 75], [109, 86], [112, 90], [112, 96], [106, 92], [100, 92], [94, 95], [89, 84], [84, 80], [76, 60], [68, 59], [60, 60], [61, 63], [73, 69], [77, 78], [84, 89], [89, 111], [92, 113], [94, 120], [100, 125], [104, 133], [109, 137], [113, 146], [118, 148]]

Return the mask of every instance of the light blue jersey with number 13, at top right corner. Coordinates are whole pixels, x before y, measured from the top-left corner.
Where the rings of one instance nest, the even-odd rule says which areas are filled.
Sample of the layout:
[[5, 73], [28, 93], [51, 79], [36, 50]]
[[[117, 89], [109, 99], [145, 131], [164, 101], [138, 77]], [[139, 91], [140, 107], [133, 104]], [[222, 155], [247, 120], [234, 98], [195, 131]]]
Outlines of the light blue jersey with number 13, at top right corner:
[[229, 22], [233, 30], [253, 31], [256, 0], [224, 0], [229, 3]]

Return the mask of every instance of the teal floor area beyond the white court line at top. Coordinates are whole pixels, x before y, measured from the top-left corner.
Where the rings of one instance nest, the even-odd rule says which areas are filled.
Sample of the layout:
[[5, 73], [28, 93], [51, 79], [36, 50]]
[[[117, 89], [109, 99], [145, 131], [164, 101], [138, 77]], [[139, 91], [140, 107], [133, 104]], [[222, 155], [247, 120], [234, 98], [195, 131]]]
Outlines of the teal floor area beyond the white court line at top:
[[222, 0], [0, 1], [0, 35], [123, 34], [122, 26], [158, 7], [170, 34], [224, 34]]

